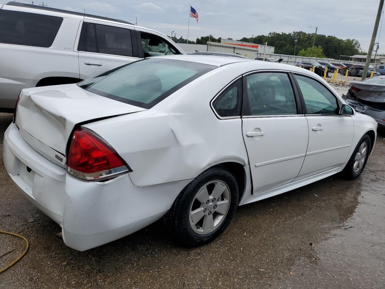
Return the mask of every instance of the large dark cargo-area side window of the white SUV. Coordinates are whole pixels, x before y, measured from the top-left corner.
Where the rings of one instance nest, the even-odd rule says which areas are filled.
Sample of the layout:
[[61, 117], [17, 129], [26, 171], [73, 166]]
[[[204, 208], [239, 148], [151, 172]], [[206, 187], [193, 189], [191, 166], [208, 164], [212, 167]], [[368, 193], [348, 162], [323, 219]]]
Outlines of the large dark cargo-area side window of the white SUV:
[[50, 47], [63, 18], [0, 9], [0, 43]]

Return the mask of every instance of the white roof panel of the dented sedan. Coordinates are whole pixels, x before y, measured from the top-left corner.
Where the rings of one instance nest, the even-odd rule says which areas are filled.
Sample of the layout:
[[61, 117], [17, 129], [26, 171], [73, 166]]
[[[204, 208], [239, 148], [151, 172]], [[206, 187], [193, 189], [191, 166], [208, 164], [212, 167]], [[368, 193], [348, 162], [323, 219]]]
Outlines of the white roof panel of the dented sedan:
[[253, 59], [241, 58], [241, 57], [228, 57], [222, 55], [200, 55], [200, 54], [177, 54], [177, 55], [162, 55], [155, 56], [165, 59], [175, 59], [189, 62], [197, 62], [202, 64], [208, 64], [213, 66], [224, 66], [235, 62], [248, 62], [255, 61]]

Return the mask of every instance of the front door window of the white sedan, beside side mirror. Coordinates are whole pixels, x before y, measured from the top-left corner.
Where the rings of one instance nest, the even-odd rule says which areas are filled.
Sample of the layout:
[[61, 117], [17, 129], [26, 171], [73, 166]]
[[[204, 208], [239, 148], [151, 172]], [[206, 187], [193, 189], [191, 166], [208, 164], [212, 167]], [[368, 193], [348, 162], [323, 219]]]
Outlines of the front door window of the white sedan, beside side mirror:
[[306, 76], [295, 75], [305, 100], [307, 114], [338, 114], [335, 96], [320, 82]]

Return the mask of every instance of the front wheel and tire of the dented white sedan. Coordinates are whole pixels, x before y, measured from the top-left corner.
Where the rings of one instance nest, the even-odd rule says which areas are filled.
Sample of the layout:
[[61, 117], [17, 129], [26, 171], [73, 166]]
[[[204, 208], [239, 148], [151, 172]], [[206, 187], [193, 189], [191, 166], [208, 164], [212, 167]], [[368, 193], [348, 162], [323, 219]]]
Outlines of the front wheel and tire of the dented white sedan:
[[[360, 152], [362, 151], [363, 147], [366, 148], [365, 155], [361, 153], [361, 156], [360, 156]], [[354, 180], [355, 178], [358, 178], [358, 176], [361, 175], [368, 161], [371, 147], [372, 147], [372, 141], [370, 140], [370, 137], [367, 134], [365, 134], [358, 142], [357, 147], [352, 153], [352, 156], [350, 157], [348, 163], [346, 164], [345, 168], [341, 172], [346, 179]], [[356, 161], [358, 161], [358, 163], [356, 163]], [[360, 161], [362, 161], [362, 163], [360, 163]]]

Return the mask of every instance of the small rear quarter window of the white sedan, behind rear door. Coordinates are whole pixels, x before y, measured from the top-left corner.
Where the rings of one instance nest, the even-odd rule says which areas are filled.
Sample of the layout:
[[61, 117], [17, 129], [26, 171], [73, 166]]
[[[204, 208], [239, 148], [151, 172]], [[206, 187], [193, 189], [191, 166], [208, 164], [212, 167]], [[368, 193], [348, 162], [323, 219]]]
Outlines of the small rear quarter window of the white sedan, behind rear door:
[[219, 116], [241, 115], [241, 79], [227, 87], [220, 96], [213, 101], [213, 107]]

